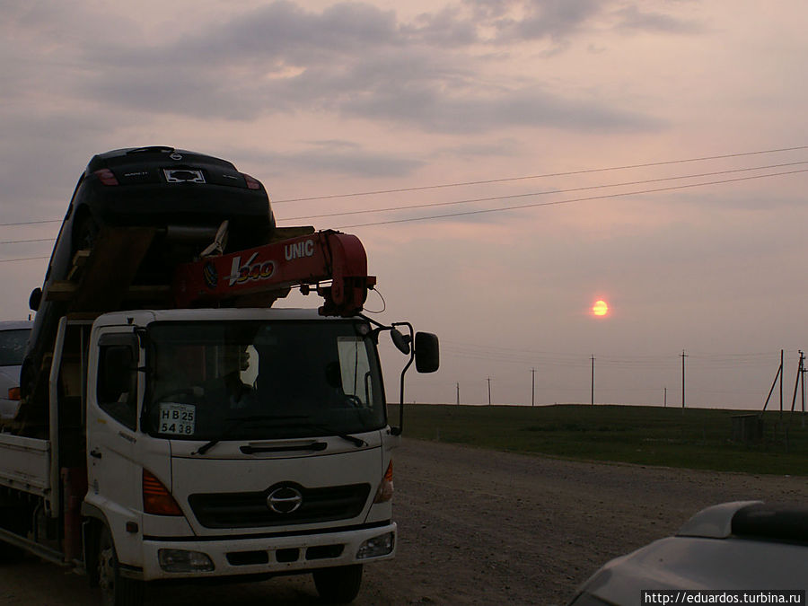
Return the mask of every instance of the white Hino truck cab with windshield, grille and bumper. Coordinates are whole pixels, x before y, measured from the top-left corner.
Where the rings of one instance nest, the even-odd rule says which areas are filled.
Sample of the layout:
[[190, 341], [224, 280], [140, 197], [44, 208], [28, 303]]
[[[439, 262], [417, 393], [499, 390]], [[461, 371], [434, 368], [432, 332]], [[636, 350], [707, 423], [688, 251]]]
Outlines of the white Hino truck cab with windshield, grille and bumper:
[[92, 343], [84, 513], [105, 512], [121, 563], [151, 580], [393, 555], [399, 438], [367, 322], [134, 312], [102, 317]]

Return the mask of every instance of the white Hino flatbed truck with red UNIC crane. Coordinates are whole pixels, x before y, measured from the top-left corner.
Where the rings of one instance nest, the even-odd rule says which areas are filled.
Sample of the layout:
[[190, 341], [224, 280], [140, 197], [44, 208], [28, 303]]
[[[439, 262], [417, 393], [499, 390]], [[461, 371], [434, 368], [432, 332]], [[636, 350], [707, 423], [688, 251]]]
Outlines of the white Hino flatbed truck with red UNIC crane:
[[[96, 249], [125, 254], [126, 238], [102, 232]], [[96, 254], [84, 271], [109, 271]], [[0, 558], [75, 566], [114, 606], [142, 603], [150, 581], [296, 573], [352, 601], [363, 565], [396, 551], [403, 407], [391, 426], [380, 333], [408, 355], [401, 403], [410, 364], [438, 365], [434, 335], [361, 313], [365, 262], [353, 236], [305, 233], [181, 266], [165, 308], [62, 316], [45, 397], [0, 433]], [[92, 300], [83, 284], [98, 283], [45, 298]], [[325, 304], [242, 307], [291, 285]]]

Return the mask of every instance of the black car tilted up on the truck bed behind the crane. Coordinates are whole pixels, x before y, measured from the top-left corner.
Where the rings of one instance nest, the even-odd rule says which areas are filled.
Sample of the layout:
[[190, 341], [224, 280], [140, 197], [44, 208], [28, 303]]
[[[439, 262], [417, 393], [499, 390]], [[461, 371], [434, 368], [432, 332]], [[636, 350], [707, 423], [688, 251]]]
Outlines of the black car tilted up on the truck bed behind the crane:
[[76, 251], [92, 250], [108, 226], [156, 228], [132, 283], [170, 285], [176, 265], [213, 242], [225, 220], [229, 225], [225, 251], [267, 242], [275, 230], [267, 190], [232, 162], [165, 146], [93, 156], [75, 186], [45, 283], [31, 293], [31, 309], [37, 314], [22, 366], [22, 397], [44, 387], [37, 375], [47, 375], [39, 372], [40, 366], [52, 351], [62, 315], [109, 312], [124, 304], [121, 298], [101, 302], [100, 297], [97, 308], [85, 303], [82, 309], [75, 301], [48, 296], [48, 287], [68, 279]]

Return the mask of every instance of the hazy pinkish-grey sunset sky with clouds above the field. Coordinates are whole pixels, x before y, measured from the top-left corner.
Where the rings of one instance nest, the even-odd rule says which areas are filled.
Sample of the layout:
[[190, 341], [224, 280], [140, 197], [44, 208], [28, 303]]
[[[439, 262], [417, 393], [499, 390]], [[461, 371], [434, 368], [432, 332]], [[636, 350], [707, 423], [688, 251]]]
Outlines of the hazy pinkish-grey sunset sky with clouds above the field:
[[2, 319], [90, 157], [171, 145], [362, 240], [368, 312], [441, 338], [407, 401], [760, 409], [782, 349], [790, 409], [808, 4], [399, 4], [0, 0]]

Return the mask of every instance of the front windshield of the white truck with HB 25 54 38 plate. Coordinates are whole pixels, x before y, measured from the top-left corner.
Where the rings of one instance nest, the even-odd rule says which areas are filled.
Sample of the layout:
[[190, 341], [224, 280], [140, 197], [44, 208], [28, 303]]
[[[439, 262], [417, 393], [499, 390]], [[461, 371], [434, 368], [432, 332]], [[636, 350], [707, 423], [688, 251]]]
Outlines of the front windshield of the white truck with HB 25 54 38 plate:
[[387, 424], [382, 377], [365, 327], [358, 321], [154, 323], [145, 429], [189, 440], [380, 429]]

